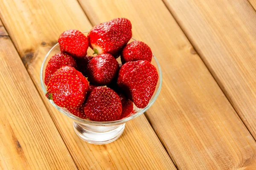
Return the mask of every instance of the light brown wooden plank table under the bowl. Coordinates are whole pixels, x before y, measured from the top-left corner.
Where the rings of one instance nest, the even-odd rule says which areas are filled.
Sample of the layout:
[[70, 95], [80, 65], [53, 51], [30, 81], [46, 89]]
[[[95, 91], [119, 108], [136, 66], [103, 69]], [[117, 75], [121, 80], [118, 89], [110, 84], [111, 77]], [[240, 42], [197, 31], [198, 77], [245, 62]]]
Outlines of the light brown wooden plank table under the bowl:
[[[0, 0], [0, 169], [256, 170], [256, 0]], [[61, 32], [126, 17], [163, 70], [110, 144], [76, 136], [41, 90]]]

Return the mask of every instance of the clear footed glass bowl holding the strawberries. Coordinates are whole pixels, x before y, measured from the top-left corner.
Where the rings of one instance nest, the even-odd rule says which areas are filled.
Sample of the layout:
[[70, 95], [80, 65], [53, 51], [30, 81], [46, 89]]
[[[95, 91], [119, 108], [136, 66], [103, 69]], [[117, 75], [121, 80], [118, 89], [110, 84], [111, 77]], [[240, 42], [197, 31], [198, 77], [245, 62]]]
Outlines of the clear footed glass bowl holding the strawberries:
[[[89, 31], [83, 32], [85, 35], [87, 35]], [[130, 42], [134, 41], [135, 39], [132, 38]], [[49, 61], [49, 59], [56, 53], [60, 52], [59, 44], [55, 44], [49, 52], [46, 54], [44, 61], [41, 66], [41, 72], [40, 72], [40, 82], [42, 89], [44, 91], [44, 94], [47, 93], [47, 86], [44, 84], [44, 73], [46, 65]], [[87, 55], [93, 55], [93, 50], [89, 47], [87, 51]], [[120, 57], [117, 59], [119, 63], [121, 63]], [[151, 100], [149, 101], [148, 105], [143, 108], [137, 108], [134, 105], [134, 112], [121, 120], [111, 121], [111, 122], [95, 122], [88, 119], [81, 119], [77, 116], [74, 116], [71, 114], [67, 109], [61, 108], [58, 105], [56, 105], [52, 100], [49, 100], [49, 102], [56, 108], [58, 111], [63, 113], [66, 116], [69, 116], [71, 119], [73, 119], [73, 127], [76, 132], [76, 134], [83, 139], [86, 142], [92, 143], [92, 144], [107, 144], [110, 142], [113, 142], [116, 140], [119, 136], [121, 136], [123, 130], [125, 129], [125, 122], [136, 118], [137, 116], [140, 116], [142, 113], [144, 113], [148, 108], [153, 105], [154, 101], [157, 99], [158, 94], [160, 93], [160, 89], [162, 86], [162, 72], [160, 69], [160, 65], [157, 61], [157, 58], [153, 55], [151, 64], [153, 64], [157, 68], [158, 72], [158, 82], [156, 89], [154, 91], [153, 96], [151, 97]]]

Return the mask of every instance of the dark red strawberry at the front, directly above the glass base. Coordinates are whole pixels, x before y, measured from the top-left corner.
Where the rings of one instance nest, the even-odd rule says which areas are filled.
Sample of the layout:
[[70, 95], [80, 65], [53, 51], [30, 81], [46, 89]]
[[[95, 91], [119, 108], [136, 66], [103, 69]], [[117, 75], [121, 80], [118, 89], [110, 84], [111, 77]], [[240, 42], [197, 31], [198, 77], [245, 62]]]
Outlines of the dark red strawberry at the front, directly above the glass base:
[[108, 122], [117, 120], [122, 113], [120, 97], [111, 88], [96, 87], [85, 102], [84, 113], [93, 121]]

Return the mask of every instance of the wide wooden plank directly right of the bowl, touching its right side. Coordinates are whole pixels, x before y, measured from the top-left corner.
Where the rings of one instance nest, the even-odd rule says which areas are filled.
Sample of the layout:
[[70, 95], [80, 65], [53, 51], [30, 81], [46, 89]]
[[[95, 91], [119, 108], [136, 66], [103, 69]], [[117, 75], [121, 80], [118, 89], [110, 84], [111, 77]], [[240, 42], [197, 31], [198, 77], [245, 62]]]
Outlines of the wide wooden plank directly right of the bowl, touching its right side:
[[146, 115], [178, 169], [256, 169], [253, 137], [161, 0], [79, 2], [93, 25], [130, 19], [159, 59], [163, 88]]

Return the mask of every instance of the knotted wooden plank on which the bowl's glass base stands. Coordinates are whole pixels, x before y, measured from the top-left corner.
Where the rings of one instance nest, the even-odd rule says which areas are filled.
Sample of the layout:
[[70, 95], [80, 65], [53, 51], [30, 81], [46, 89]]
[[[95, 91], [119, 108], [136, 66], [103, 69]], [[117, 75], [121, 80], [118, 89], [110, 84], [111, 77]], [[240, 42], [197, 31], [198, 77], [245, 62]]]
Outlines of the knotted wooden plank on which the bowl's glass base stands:
[[91, 28], [76, 0], [0, 2], [1, 18], [79, 169], [176, 169], [144, 115], [128, 122], [117, 141], [87, 144], [76, 136], [72, 120], [44, 97], [39, 71], [47, 51], [61, 32]]

